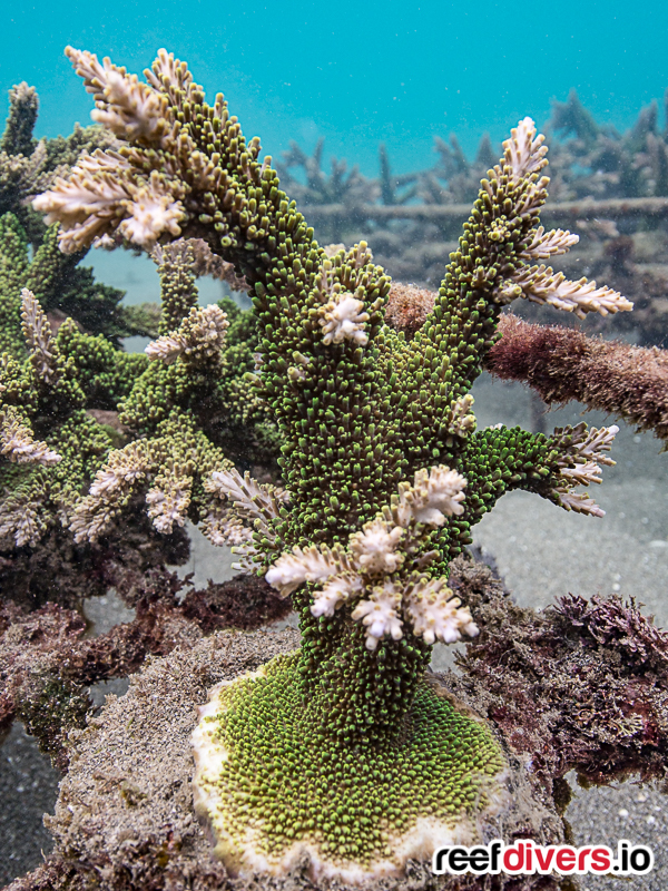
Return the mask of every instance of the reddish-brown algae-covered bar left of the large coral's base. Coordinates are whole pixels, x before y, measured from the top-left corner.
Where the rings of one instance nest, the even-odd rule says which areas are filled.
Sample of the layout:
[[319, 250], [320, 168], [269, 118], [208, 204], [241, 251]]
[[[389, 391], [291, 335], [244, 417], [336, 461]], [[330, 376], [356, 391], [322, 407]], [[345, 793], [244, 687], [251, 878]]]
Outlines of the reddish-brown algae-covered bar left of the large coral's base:
[[180, 603], [183, 582], [169, 574], [149, 574], [145, 582], [136, 618], [92, 638], [82, 638], [86, 624], [78, 613], [56, 604], [33, 613], [12, 603], [0, 608], [0, 731], [19, 717], [65, 771], [67, 732], [85, 726], [90, 684], [131, 674], [148, 655], [189, 649], [209, 631], [277, 621], [291, 608], [255, 577], [209, 582]]

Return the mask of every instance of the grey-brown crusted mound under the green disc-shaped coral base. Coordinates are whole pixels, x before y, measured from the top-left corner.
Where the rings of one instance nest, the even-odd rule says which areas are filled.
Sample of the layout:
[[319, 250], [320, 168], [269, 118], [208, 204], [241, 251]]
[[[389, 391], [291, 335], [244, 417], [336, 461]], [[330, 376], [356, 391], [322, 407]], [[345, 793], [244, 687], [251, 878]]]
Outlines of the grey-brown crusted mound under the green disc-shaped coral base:
[[[68, 873], [67, 887], [76, 891], [334, 891], [347, 887], [345, 879], [326, 875], [314, 881], [307, 858], [292, 863], [284, 875], [233, 879], [215, 856], [194, 813], [190, 738], [197, 706], [206, 702], [214, 685], [234, 685], [267, 659], [285, 658], [282, 654], [297, 645], [298, 634], [291, 628], [279, 633], [217, 631], [189, 649], [179, 647], [166, 657], [150, 659], [132, 677], [125, 696], [108, 697], [99, 717], [90, 721], [87, 730], [71, 734], [69, 772], [60, 786], [55, 816], [47, 817], [56, 850], [42, 871]], [[449, 701], [441, 702], [448, 714]], [[489, 732], [478, 726], [487, 737]], [[497, 746], [500, 744], [494, 743]], [[299, 770], [296, 782], [305, 779]], [[430, 779], [435, 786], [436, 768]], [[385, 795], [387, 786], [381, 780], [377, 783]], [[497, 815], [490, 810], [481, 828], [485, 839], [498, 838], [501, 831], [505, 838], [513, 833], [520, 838], [532, 826], [532, 838], [543, 843], [563, 840], [553, 805], [546, 806], [529, 791], [523, 762], [514, 755], [509, 758], [503, 787], [508, 790], [507, 806]], [[277, 801], [283, 805], [279, 797]], [[375, 820], [374, 815], [374, 825]], [[459, 887], [456, 879], [452, 884], [453, 877], [433, 875], [426, 858], [410, 860], [406, 873], [369, 880], [365, 888], [450, 891]], [[36, 873], [18, 887], [32, 891], [46, 887], [38, 880]], [[553, 891], [557, 885], [547, 888]]]

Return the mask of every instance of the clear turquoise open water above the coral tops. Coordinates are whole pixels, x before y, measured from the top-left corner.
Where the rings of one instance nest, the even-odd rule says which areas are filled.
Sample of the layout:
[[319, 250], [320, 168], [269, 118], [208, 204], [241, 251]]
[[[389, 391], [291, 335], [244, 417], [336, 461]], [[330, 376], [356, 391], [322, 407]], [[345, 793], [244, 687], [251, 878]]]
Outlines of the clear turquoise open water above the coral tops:
[[[630, 126], [668, 87], [668, 4], [650, 2], [365, 3], [9, 2], [0, 17], [0, 82], [37, 87], [38, 136], [88, 123], [90, 97], [66, 43], [140, 72], [156, 49], [187, 59], [223, 90], [245, 133], [278, 155], [296, 139], [377, 169], [384, 140], [396, 172], [431, 166], [433, 136], [473, 151], [524, 115], [544, 121], [574, 87], [601, 121]], [[662, 105], [662, 102], [661, 102]], [[662, 114], [661, 114], [662, 119]]]

